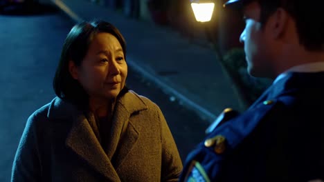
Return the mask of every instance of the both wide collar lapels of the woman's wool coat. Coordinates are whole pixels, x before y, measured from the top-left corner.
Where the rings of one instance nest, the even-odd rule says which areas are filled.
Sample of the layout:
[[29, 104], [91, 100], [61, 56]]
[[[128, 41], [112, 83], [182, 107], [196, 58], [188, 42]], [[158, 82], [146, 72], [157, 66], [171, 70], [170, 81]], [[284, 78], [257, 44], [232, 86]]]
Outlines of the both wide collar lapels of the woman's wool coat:
[[[127, 134], [125, 134], [123, 140], [120, 140], [123, 124], [128, 123], [132, 114], [146, 109], [147, 105], [143, 99], [132, 90], [129, 90], [118, 99], [112, 119], [111, 140], [107, 152], [102, 149], [96, 134], [91, 128], [90, 123], [93, 122], [91, 121], [94, 119], [93, 114], [85, 117], [84, 113], [78, 110], [75, 105], [56, 97], [49, 106], [48, 118], [51, 121], [72, 121], [72, 128], [66, 137], [66, 146], [87, 161], [92, 168], [100, 172], [109, 181], [120, 181], [116, 167], [125, 159], [125, 156], [132, 150], [138, 139], [138, 131], [134, 125], [129, 123]], [[123, 141], [123, 146], [126, 145], [127, 147], [118, 147], [120, 141]], [[120, 154], [114, 156], [115, 152], [123, 154], [123, 156], [120, 156]], [[111, 163], [113, 156], [114, 159], [117, 159], [116, 165]]]

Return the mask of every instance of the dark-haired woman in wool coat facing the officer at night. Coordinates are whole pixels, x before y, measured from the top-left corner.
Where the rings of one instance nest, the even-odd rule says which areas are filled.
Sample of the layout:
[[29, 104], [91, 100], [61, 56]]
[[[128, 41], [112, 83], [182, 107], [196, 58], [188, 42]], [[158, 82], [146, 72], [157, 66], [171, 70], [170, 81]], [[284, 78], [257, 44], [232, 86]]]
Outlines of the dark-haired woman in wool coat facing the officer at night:
[[126, 45], [105, 21], [66, 37], [57, 97], [28, 119], [12, 181], [177, 181], [181, 159], [159, 107], [125, 87]]

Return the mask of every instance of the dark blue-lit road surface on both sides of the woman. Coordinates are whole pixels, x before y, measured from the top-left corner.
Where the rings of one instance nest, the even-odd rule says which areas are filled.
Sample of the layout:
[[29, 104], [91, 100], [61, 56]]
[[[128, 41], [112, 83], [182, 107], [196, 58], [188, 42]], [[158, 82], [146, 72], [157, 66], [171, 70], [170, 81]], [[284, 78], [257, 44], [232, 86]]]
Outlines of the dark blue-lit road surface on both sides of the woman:
[[[26, 120], [55, 97], [52, 79], [73, 22], [61, 12], [0, 15], [0, 22], [0, 181], [10, 181]], [[201, 121], [133, 70], [129, 70], [127, 85], [160, 106], [184, 160], [204, 136], [207, 121]]]

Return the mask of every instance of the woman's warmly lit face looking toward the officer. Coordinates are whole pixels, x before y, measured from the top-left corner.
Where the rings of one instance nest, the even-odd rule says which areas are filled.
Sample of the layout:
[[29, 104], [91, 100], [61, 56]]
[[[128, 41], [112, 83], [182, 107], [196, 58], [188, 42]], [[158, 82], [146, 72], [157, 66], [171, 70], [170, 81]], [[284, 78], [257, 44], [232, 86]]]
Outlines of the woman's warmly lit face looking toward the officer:
[[69, 63], [73, 77], [90, 99], [114, 99], [125, 86], [127, 63], [123, 48], [114, 35], [100, 32], [93, 37], [80, 66]]

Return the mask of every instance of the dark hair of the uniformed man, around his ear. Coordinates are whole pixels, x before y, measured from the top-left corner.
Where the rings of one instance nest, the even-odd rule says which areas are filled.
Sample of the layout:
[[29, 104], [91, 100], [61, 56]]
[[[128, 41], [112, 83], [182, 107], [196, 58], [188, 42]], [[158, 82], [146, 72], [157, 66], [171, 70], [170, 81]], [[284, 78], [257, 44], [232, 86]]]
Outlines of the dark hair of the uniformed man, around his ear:
[[[264, 25], [277, 8], [283, 8], [296, 21], [299, 41], [307, 50], [324, 50], [323, 0], [257, 0]], [[247, 1], [251, 2], [251, 1]]]

